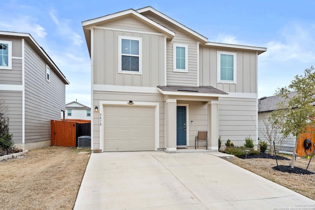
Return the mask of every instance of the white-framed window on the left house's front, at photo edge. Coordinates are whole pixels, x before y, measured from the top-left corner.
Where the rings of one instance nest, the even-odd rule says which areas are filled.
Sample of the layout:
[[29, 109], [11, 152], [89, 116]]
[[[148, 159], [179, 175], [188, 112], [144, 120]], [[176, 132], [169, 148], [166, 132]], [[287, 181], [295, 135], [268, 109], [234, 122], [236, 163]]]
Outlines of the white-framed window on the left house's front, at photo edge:
[[12, 42], [0, 40], [0, 68], [12, 69]]

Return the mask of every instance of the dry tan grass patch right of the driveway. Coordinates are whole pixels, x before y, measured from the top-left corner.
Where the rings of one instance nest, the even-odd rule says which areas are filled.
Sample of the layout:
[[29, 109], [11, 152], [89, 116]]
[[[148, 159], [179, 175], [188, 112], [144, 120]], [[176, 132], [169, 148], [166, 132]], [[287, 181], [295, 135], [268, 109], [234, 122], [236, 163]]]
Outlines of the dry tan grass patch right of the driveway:
[[[292, 156], [290, 155], [283, 156], [287, 157], [290, 160], [278, 160], [278, 165], [288, 166], [291, 163]], [[315, 200], [315, 174], [313, 175], [289, 174], [273, 170], [272, 167], [277, 166], [276, 160], [273, 159], [265, 158], [241, 159], [238, 157], [233, 157], [226, 160], [242, 168], [245, 168], [261, 177], [274, 181], [295, 192], [298, 192], [306, 197]], [[308, 163], [309, 159], [297, 158], [294, 163], [294, 166], [306, 169]], [[315, 157], [313, 157], [308, 170], [315, 173]]]

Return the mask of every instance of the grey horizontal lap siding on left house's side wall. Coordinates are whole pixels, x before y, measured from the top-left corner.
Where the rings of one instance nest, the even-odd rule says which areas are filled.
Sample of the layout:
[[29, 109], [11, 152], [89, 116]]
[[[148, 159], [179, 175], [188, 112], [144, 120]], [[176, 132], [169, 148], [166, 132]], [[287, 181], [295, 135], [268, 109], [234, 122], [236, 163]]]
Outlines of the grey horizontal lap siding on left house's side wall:
[[65, 84], [50, 66], [25, 43], [25, 143], [51, 139], [50, 120], [60, 120], [65, 109]]

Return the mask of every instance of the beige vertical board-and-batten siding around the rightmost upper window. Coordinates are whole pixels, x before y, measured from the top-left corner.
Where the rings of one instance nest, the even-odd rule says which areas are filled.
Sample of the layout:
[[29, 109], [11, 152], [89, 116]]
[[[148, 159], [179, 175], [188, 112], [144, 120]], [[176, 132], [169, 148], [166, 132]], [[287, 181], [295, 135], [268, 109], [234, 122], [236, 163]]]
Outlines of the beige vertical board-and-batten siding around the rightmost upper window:
[[[236, 53], [236, 84], [218, 83], [218, 52]], [[199, 84], [225, 92], [257, 93], [257, 54], [250, 51], [227, 51], [200, 46]]]

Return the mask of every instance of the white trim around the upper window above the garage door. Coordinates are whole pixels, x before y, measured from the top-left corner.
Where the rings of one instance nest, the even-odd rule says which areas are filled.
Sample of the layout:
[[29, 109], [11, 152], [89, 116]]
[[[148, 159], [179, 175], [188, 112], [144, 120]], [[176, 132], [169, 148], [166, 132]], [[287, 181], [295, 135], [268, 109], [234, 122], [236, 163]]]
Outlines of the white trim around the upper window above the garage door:
[[[139, 71], [122, 70], [122, 39], [139, 41]], [[118, 36], [118, 73], [120, 74], [142, 74], [142, 38], [134, 36]]]

